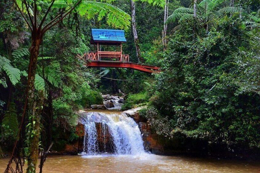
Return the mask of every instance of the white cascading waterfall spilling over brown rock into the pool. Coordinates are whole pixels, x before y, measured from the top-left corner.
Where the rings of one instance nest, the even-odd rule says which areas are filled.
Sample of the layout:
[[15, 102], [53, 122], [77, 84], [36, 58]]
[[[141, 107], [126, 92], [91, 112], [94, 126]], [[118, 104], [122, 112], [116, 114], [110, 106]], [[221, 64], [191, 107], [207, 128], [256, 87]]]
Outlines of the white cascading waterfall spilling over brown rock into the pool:
[[145, 153], [138, 125], [120, 112], [84, 112], [80, 121], [85, 127], [83, 155]]

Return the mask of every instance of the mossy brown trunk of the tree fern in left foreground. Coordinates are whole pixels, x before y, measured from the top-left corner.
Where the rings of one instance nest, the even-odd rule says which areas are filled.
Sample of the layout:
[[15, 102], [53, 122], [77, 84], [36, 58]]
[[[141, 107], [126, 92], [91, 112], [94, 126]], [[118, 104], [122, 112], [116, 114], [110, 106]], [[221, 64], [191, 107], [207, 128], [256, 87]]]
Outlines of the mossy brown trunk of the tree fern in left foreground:
[[32, 45], [30, 47], [30, 64], [28, 73], [28, 116], [29, 116], [29, 132], [28, 132], [28, 168], [27, 172], [35, 172], [39, 150], [40, 136], [40, 113], [43, 104], [43, 92], [35, 95], [34, 81], [37, 68], [37, 59], [39, 55], [40, 44], [42, 41], [41, 33], [37, 29], [32, 32]]

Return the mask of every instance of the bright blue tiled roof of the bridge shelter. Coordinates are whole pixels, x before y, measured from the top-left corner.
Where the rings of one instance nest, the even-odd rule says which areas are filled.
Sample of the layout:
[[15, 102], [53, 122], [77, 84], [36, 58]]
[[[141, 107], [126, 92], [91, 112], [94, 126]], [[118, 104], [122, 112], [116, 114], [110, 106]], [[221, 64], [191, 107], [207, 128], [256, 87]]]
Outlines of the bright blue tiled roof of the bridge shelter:
[[93, 41], [113, 41], [113, 42], [126, 42], [124, 30], [115, 29], [92, 29]]

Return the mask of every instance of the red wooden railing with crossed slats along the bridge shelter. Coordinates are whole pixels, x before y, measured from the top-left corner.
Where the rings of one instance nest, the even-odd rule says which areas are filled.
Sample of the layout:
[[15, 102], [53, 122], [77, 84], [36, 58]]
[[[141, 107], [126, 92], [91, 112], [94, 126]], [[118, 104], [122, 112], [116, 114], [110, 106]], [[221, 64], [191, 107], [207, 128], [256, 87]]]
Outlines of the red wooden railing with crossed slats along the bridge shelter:
[[129, 62], [128, 54], [110, 51], [87, 52], [83, 55], [83, 58], [90, 61], [103, 61], [102, 59], [111, 59], [111, 61], [116, 60], [119, 62]]

